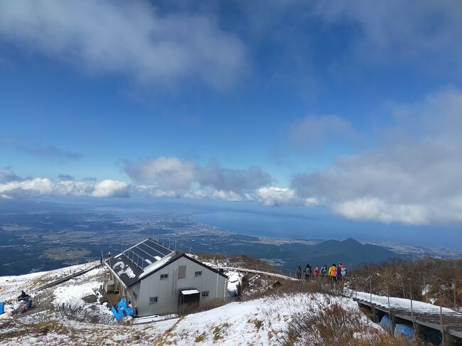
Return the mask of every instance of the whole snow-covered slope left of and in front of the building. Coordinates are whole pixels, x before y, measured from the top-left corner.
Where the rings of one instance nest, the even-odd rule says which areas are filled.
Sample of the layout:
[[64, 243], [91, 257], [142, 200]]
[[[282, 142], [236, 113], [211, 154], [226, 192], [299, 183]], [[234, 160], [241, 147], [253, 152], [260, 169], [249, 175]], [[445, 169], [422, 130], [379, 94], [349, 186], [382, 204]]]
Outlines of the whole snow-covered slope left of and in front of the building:
[[[4, 300], [13, 300], [21, 288], [30, 291], [41, 284], [68, 274], [72, 269], [0, 278]], [[77, 303], [82, 309], [104, 315], [109, 310], [97, 303], [87, 303], [93, 288], [103, 281], [104, 269], [87, 274], [36, 294], [36, 299], [48, 300], [48, 308], [27, 315], [0, 319], [2, 345], [280, 345], [286, 337], [289, 323], [296, 315], [313, 312], [329, 304], [358, 310], [350, 298], [330, 297], [321, 293], [293, 293], [252, 301], [233, 302], [181, 318], [161, 320], [144, 325], [115, 325], [72, 320], [58, 315], [53, 306]], [[359, 310], [358, 310], [359, 313]], [[372, 323], [363, 315], [365, 324]], [[5, 342], [5, 343], [4, 343]]]

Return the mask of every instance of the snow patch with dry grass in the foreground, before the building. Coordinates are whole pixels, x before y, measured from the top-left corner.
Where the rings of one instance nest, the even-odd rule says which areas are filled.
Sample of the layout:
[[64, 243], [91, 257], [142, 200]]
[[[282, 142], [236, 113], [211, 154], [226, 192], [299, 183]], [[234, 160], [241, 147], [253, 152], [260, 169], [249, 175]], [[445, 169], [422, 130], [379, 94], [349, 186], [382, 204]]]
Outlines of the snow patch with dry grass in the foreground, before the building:
[[[316, 310], [326, 299], [321, 293], [259, 298], [146, 325], [63, 320], [57, 321], [46, 335], [26, 333], [10, 337], [8, 345], [61, 345], [63, 334], [70, 335], [68, 342], [78, 335], [80, 345], [280, 345], [294, 314]], [[358, 309], [350, 298], [331, 298], [334, 302]], [[364, 319], [372, 324], [365, 316]]]

